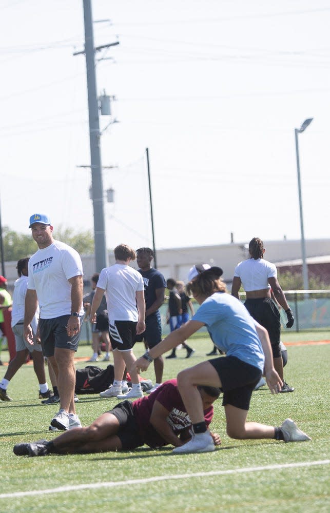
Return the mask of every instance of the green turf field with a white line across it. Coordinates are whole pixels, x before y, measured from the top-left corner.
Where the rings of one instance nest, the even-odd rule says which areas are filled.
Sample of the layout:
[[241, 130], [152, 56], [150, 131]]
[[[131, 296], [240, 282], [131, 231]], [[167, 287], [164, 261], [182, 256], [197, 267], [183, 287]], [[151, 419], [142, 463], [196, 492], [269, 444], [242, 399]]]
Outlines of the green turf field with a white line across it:
[[[329, 339], [326, 332], [287, 335], [285, 331], [284, 343]], [[212, 347], [207, 338], [194, 339], [191, 345], [196, 352], [189, 360], [184, 350], [177, 351], [176, 360], [166, 360], [164, 379], [205, 360]], [[142, 447], [92, 455], [14, 456], [15, 443], [56, 436], [48, 426], [57, 408], [41, 405], [33, 368], [24, 365], [8, 388], [14, 400], [0, 404], [1, 513], [328, 512], [330, 344], [293, 344], [287, 349], [285, 379], [295, 392], [276, 397], [267, 388], [254, 392], [248, 419], [278, 426], [292, 417], [313, 440], [285, 444], [229, 439], [218, 400], [211, 429], [221, 435], [222, 446], [201, 455], [174, 456], [171, 448]], [[135, 354], [142, 352], [143, 345], [135, 345]], [[90, 347], [82, 346], [77, 356], [90, 354]], [[3, 351], [3, 361], [8, 361], [6, 357]], [[77, 363], [85, 365], [85, 361]], [[5, 367], [0, 369], [3, 376]], [[145, 377], [154, 381], [152, 365]], [[89, 424], [116, 402], [80, 396], [76, 406], [82, 424]]]

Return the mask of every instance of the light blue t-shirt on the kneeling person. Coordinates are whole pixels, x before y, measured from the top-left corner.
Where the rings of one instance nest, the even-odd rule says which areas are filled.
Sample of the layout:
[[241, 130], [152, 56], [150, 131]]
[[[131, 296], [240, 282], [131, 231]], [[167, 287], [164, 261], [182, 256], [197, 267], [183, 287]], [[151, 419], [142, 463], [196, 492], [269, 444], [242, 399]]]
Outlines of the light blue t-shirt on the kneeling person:
[[191, 320], [204, 323], [213, 343], [227, 356], [235, 356], [263, 370], [265, 357], [255, 320], [237, 298], [215, 292], [201, 304]]

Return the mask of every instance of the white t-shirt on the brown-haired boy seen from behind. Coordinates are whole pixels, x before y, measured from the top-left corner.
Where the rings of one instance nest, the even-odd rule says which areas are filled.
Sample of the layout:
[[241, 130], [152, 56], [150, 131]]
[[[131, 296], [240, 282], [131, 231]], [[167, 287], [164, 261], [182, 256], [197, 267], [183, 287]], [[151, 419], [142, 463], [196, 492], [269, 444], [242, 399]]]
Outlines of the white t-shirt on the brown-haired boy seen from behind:
[[109, 322], [139, 320], [136, 293], [144, 290], [140, 272], [126, 264], [114, 264], [102, 269], [97, 286], [105, 290]]

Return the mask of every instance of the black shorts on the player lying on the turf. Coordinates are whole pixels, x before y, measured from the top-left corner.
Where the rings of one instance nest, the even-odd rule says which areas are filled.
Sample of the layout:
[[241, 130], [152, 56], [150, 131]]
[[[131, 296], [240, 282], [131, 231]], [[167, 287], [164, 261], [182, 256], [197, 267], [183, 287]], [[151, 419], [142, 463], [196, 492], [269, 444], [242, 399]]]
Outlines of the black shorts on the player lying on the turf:
[[122, 449], [135, 449], [144, 445], [144, 441], [139, 435], [139, 426], [134, 417], [131, 401], [116, 404], [108, 413], [112, 413], [118, 419], [120, 428], [117, 436], [122, 443]]

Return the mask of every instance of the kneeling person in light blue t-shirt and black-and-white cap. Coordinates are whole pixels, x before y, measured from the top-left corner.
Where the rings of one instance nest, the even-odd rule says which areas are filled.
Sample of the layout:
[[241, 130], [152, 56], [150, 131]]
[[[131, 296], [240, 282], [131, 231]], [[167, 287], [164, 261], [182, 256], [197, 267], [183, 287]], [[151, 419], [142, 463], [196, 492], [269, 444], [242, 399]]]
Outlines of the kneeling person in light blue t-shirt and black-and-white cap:
[[172, 331], [134, 364], [135, 371], [146, 370], [153, 358], [180, 344], [203, 326], [207, 327], [213, 343], [226, 353], [224, 357], [212, 358], [178, 374], [178, 388], [191, 420], [193, 436], [173, 452], [215, 450], [203, 418], [198, 385], [222, 389], [227, 434], [231, 438], [310, 440], [292, 419], [286, 419], [279, 427], [246, 421], [251, 395], [263, 370], [271, 393], [278, 393], [283, 383], [274, 368], [267, 330], [251, 317], [237, 298], [227, 293], [221, 275], [220, 267], [208, 264], [191, 267], [186, 288], [199, 303], [199, 309], [191, 320]]

